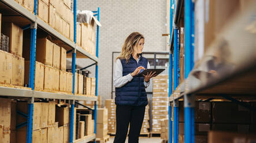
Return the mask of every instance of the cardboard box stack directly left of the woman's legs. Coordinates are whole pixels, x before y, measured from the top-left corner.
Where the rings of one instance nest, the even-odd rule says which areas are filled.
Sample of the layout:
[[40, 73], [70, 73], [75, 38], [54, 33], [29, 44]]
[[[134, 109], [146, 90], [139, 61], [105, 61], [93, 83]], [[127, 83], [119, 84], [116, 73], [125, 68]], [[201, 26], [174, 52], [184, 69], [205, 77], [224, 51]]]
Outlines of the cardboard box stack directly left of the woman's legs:
[[114, 99], [106, 99], [105, 106], [107, 108], [107, 128], [108, 133], [116, 134], [116, 104], [114, 104]]

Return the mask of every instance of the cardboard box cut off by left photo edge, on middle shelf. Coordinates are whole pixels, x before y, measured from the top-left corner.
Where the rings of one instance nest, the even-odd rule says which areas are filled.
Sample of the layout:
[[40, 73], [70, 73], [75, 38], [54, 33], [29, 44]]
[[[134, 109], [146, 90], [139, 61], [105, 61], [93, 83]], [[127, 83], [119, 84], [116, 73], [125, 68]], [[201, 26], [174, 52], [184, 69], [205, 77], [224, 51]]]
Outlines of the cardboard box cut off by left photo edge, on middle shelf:
[[0, 83], [10, 84], [12, 78], [12, 54], [0, 50]]

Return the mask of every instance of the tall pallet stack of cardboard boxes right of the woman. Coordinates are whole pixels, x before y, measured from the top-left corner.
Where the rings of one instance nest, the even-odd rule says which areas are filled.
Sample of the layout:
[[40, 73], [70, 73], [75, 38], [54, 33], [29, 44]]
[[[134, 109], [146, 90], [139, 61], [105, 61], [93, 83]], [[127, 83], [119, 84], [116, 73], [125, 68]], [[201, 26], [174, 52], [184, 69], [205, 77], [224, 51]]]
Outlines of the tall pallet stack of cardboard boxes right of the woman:
[[169, 76], [159, 75], [153, 78], [152, 132], [161, 133], [161, 119], [168, 118]]

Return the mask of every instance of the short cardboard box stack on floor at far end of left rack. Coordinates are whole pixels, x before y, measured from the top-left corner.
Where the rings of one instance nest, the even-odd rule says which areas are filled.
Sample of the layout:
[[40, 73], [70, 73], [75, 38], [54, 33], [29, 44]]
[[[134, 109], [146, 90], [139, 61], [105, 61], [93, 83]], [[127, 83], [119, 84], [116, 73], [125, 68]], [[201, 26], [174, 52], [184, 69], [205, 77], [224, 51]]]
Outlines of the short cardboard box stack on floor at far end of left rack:
[[97, 138], [107, 136], [107, 108], [97, 109]]

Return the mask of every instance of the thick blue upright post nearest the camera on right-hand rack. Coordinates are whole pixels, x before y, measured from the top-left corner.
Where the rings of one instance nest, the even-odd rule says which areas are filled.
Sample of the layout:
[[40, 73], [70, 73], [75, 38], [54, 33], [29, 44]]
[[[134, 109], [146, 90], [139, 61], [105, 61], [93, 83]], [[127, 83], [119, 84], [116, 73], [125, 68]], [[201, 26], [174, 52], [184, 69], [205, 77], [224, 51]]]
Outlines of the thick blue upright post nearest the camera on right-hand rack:
[[[194, 3], [185, 0], [185, 78], [194, 67]], [[195, 97], [184, 96], [185, 143], [195, 142]]]

